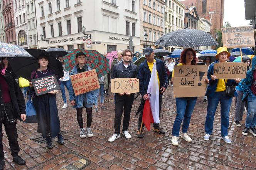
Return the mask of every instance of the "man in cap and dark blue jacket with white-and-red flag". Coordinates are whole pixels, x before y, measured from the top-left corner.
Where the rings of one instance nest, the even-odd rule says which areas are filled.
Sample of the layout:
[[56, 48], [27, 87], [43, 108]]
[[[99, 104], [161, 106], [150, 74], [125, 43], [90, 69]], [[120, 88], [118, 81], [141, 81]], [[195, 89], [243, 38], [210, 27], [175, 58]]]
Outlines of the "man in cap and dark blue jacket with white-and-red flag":
[[[142, 100], [148, 100], [147, 96], [148, 84], [150, 81], [153, 64], [156, 62], [157, 64], [157, 75], [158, 75], [158, 84], [159, 84], [159, 116], [161, 112], [161, 104], [162, 104], [162, 96], [165, 90], [167, 89], [167, 73], [165, 69], [165, 64], [160, 59], [154, 58], [154, 51], [152, 48], [146, 48], [144, 50], [144, 55], [146, 60], [140, 64], [139, 66], [139, 79], [140, 79], [140, 94], [142, 96]], [[140, 112], [139, 120], [138, 120], [138, 137], [142, 138], [143, 133], [140, 133], [140, 126], [142, 121], [142, 111]], [[144, 129], [144, 124], [142, 125], [142, 130]], [[165, 131], [160, 129], [159, 124], [153, 123], [153, 131], [158, 132], [159, 134], [165, 134]]]

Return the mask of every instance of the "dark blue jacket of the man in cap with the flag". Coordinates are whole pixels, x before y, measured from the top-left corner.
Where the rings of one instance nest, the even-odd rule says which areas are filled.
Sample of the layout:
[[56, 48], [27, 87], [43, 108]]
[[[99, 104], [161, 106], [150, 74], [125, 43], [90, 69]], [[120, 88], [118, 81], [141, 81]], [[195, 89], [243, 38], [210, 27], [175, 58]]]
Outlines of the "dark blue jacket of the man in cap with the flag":
[[[167, 78], [167, 73], [165, 69], [165, 64], [163, 63], [163, 61], [156, 58], [155, 60], [157, 64], [158, 78], [160, 81], [160, 86], [159, 86], [159, 91], [160, 91], [161, 87], [165, 87], [167, 89], [168, 78]], [[150, 77], [151, 77], [151, 71], [148, 67], [147, 60], [145, 59], [145, 61], [141, 63], [139, 66], [140, 94], [142, 96], [147, 94]]]

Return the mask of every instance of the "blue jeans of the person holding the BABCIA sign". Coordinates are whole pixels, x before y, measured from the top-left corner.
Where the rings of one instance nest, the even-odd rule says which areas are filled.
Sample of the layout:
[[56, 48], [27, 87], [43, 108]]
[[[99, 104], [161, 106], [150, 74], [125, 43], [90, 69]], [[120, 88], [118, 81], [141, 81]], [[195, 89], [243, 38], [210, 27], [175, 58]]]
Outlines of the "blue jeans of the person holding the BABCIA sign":
[[206, 134], [212, 134], [214, 115], [218, 104], [221, 103], [221, 136], [227, 136], [231, 102], [232, 97], [227, 96], [226, 91], [215, 92], [213, 97], [208, 97], [207, 115], [204, 125]]

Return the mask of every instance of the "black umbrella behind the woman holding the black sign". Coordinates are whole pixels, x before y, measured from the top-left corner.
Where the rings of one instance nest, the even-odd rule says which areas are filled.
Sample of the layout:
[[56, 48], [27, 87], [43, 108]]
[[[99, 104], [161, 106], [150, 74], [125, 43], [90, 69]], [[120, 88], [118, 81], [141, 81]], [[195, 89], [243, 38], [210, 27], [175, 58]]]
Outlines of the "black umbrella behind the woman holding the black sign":
[[8, 59], [12, 66], [13, 72], [22, 78], [30, 80], [31, 73], [38, 67], [38, 57], [41, 54], [49, 56], [49, 68], [54, 70], [59, 78], [64, 76], [62, 63], [54, 56], [49, 55], [45, 50], [40, 49], [25, 49], [31, 57], [16, 57]]

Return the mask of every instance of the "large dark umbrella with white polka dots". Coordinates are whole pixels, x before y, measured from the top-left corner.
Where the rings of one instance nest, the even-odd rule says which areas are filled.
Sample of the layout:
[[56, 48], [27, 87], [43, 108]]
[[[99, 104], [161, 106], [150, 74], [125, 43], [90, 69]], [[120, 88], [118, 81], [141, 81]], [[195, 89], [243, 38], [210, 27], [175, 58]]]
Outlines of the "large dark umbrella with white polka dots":
[[185, 28], [182, 30], [172, 31], [163, 35], [156, 42], [159, 46], [215, 46], [217, 41], [208, 32]]

